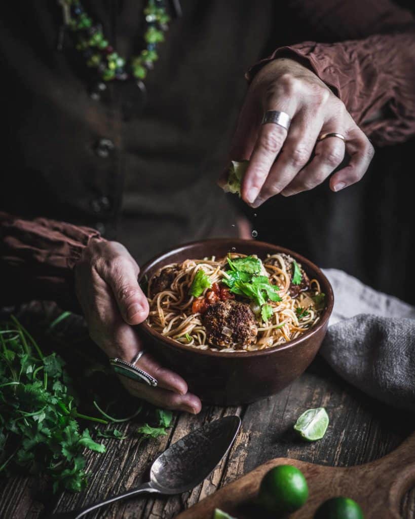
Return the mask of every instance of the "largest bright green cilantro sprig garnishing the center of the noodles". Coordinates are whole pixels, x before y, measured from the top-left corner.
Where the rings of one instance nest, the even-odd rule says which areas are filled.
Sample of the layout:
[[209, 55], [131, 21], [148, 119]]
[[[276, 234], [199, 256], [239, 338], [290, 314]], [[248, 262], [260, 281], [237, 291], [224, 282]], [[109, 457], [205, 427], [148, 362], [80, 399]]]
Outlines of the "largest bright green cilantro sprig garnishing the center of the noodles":
[[251, 299], [260, 307], [262, 320], [267, 321], [272, 316], [272, 307], [267, 301], [278, 302], [281, 297], [278, 285], [272, 285], [267, 276], [261, 276], [262, 262], [256, 257], [247, 256], [231, 260], [228, 257], [230, 270], [226, 271], [227, 277], [222, 282], [231, 292]]

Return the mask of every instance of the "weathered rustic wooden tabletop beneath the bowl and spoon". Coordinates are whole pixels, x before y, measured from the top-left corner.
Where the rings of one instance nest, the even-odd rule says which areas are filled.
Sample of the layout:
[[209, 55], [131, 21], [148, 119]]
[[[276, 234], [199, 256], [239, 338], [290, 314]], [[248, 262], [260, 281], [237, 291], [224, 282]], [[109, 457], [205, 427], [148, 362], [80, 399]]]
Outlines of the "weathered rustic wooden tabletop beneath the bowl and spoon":
[[[76, 330], [72, 332], [76, 334]], [[305, 409], [319, 406], [324, 406], [330, 417], [325, 437], [315, 443], [298, 440], [292, 431], [296, 418]], [[232, 414], [242, 419], [237, 440], [228, 456], [198, 487], [182, 496], [121, 501], [88, 517], [168, 519], [271, 458], [287, 456], [322, 465], [357, 465], [389, 453], [415, 429], [415, 415], [370, 399], [317, 357], [305, 374], [278, 395], [239, 407], [205, 405], [198, 416], [176, 414], [169, 434], [159, 439], [140, 443], [134, 437], [137, 424], [122, 424], [119, 429], [128, 436], [126, 440], [103, 440], [107, 453], [88, 455], [89, 486], [80, 494], [53, 496], [41, 477], [10, 478], [2, 483], [0, 517], [41, 518], [51, 511], [77, 509], [125, 491], [143, 481], [153, 459], [171, 442], [206, 422]], [[415, 517], [415, 490], [405, 497], [402, 516]]]

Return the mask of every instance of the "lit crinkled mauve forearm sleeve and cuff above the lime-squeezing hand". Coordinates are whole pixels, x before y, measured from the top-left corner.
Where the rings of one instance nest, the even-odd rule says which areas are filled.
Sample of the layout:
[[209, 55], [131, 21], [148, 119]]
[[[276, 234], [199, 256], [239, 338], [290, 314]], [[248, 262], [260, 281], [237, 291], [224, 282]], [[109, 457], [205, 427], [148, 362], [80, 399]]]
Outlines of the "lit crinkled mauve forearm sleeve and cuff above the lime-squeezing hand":
[[415, 31], [336, 44], [305, 42], [277, 49], [247, 72], [276, 58], [307, 66], [343, 101], [356, 124], [378, 145], [415, 133]]

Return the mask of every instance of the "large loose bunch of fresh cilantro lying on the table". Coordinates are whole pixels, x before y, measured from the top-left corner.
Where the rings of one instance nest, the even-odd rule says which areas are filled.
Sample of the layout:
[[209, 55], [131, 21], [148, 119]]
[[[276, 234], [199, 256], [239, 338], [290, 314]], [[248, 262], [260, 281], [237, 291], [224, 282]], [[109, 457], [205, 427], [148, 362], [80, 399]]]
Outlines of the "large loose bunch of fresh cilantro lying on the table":
[[49, 474], [54, 491], [85, 488], [82, 452], [103, 453], [105, 446], [80, 431], [77, 418], [107, 422], [78, 413], [63, 359], [44, 356], [16, 318], [1, 327], [0, 347], [0, 471], [13, 462]]

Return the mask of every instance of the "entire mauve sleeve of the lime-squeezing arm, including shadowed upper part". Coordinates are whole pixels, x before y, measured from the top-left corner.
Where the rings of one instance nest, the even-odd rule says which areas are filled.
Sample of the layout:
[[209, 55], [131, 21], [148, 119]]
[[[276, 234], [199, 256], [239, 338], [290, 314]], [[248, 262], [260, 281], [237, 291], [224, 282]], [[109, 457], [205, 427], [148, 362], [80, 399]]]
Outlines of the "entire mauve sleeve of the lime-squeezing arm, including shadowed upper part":
[[[298, 2], [292, 2], [292, 4]], [[310, 23], [330, 26], [339, 43], [305, 42], [276, 49], [247, 73], [275, 58], [300, 61], [343, 101], [356, 124], [377, 145], [415, 134], [415, 20], [389, 0], [299, 4]], [[358, 13], [358, 16], [356, 15]], [[370, 34], [372, 31], [377, 34]], [[384, 33], [388, 31], [388, 33]], [[361, 38], [362, 35], [370, 34]]]

